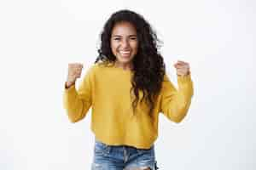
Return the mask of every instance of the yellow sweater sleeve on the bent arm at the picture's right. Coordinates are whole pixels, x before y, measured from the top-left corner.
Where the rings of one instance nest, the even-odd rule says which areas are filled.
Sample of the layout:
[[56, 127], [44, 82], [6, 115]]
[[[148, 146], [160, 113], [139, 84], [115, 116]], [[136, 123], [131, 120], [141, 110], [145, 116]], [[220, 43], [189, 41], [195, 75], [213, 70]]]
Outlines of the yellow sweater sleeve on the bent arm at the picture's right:
[[194, 94], [190, 73], [177, 76], [178, 90], [165, 75], [160, 93], [160, 112], [173, 122], [181, 122], [189, 111]]

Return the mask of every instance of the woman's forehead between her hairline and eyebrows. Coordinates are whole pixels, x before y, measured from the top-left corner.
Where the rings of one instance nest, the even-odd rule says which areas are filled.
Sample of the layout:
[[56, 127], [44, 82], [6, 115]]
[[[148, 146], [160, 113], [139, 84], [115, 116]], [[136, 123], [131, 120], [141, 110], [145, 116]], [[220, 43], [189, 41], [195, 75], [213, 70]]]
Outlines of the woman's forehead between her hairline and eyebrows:
[[113, 26], [112, 35], [136, 35], [135, 27], [129, 22], [119, 22]]

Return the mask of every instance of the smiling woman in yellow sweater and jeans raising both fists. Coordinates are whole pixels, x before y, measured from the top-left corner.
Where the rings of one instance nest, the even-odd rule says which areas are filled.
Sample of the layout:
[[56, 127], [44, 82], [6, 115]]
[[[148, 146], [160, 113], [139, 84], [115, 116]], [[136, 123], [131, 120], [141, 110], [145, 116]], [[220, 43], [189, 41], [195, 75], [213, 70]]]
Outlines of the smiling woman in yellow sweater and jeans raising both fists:
[[156, 34], [143, 16], [130, 10], [111, 15], [99, 56], [79, 89], [83, 65], [69, 64], [64, 105], [71, 122], [91, 110], [96, 144], [92, 169], [156, 169], [154, 141], [163, 113], [181, 122], [189, 110], [193, 83], [189, 64], [177, 61], [178, 91], [166, 76]]

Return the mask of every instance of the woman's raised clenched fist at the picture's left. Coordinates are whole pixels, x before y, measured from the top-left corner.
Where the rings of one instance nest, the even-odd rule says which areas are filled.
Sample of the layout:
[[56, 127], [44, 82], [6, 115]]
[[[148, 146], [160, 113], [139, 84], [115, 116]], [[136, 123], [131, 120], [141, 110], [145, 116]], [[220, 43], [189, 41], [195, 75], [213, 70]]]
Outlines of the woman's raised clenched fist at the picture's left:
[[81, 77], [83, 65], [80, 63], [70, 63], [68, 64], [68, 74], [67, 74], [67, 82], [66, 87], [69, 88], [72, 84], [74, 84], [77, 78]]

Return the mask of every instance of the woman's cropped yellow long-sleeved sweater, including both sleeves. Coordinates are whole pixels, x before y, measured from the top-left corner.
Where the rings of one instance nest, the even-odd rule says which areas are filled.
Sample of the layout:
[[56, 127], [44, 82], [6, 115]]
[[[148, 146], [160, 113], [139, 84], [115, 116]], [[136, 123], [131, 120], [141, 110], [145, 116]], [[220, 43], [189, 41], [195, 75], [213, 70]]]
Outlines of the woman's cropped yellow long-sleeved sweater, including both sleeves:
[[[177, 76], [178, 91], [165, 75], [160, 95], [154, 103], [153, 118], [148, 106], [138, 103], [132, 112], [130, 88], [132, 71], [113, 65], [94, 64], [86, 72], [76, 90], [75, 85], [64, 89], [63, 102], [71, 122], [86, 116], [91, 106], [90, 128], [105, 144], [125, 144], [148, 149], [158, 137], [159, 113], [172, 122], [186, 116], [193, 95], [190, 74]], [[139, 93], [142, 97], [142, 93]]]

